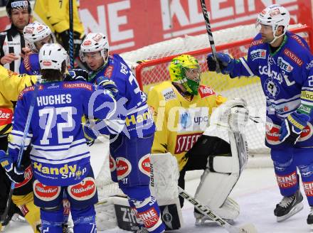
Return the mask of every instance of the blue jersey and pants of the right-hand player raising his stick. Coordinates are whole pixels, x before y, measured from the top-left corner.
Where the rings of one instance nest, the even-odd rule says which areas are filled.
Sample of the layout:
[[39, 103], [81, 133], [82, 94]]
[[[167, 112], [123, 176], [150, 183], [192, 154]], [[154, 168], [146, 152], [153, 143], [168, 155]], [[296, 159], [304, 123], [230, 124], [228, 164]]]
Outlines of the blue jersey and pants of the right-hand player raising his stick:
[[260, 33], [253, 39], [248, 58], [235, 60], [230, 77], [260, 77], [267, 102], [267, 146], [279, 146], [282, 120], [300, 106], [311, 118], [296, 146], [313, 146], [313, 56], [306, 41], [287, 32], [282, 45], [274, 53], [262, 43]]

